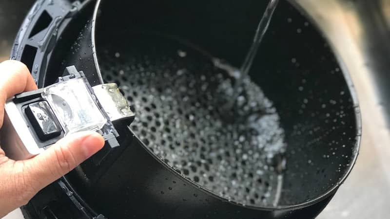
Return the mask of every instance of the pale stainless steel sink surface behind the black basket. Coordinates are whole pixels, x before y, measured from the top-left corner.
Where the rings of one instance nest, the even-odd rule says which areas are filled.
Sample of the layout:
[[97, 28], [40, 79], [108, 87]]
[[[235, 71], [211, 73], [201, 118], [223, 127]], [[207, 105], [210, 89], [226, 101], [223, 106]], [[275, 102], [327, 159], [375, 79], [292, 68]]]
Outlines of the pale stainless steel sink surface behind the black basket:
[[[0, 61], [33, 0], [0, 0]], [[362, 112], [360, 154], [319, 219], [387, 218], [390, 197], [390, 0], [297, 0], [344, 62]], [[10, 216], [8, 219], [20, 217]]]

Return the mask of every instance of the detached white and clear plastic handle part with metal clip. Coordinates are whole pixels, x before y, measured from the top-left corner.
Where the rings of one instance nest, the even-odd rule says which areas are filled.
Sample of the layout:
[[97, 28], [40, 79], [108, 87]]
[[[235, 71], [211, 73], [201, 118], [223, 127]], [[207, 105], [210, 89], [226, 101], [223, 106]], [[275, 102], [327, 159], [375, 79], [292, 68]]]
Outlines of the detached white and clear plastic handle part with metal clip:
[[6, 102], [0, 138], [9, 158], [31, 158], [63, 136], [84, 130], [103, 135], [105, 147], [119, 146], [113, 122], [130, 125], [135, 114], [117, 85], [92, 88], [74, 66], [67, 67], [64, 75], [56, 84], [20, 93]]

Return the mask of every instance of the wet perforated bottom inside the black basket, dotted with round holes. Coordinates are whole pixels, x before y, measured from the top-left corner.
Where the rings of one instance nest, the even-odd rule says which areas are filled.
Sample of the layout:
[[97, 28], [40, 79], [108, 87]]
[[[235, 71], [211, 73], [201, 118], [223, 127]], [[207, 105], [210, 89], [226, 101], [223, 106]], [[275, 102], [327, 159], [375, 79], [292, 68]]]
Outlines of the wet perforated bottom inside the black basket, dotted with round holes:
[[102, 49], [99, 63], [104, 80], [116, 82], [134, 107], [131, 128], [142, 142], [229, 201], [277, 205], [284, 130], [261, 89], [246, 78], [227, 119], [221, 106], [234, 79], [210, 57], [163, 37], [134, 41], [126, 53]]

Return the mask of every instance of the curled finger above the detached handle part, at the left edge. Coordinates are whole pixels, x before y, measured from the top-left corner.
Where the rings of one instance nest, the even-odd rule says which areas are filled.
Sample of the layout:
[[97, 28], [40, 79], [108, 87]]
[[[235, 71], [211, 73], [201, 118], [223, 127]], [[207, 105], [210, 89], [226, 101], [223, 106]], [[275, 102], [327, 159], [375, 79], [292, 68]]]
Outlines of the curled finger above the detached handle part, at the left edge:
[[23, 91], [37, 89], [26, 65], [19, 61], [7, 60], [0, 63], [0, 127], [3, 124], [5, 101]]

